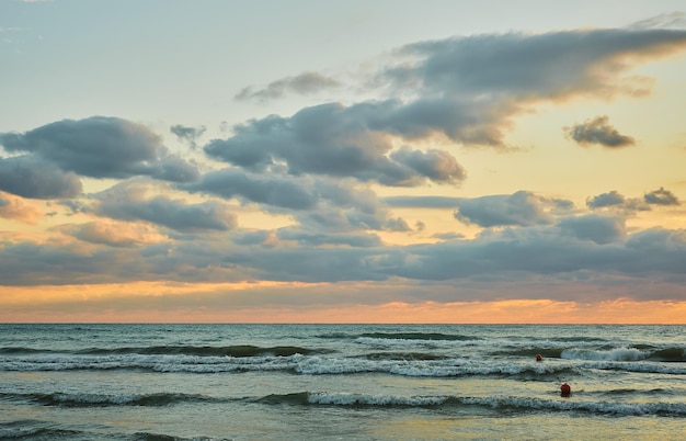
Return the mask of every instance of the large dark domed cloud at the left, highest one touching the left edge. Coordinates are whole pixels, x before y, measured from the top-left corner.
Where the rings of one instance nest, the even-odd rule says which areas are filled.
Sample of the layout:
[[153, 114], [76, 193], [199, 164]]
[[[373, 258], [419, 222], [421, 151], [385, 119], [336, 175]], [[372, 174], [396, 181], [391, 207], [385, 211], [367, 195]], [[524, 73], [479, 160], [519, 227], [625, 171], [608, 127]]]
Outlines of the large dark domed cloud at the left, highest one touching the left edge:
[[146, 126], [116, 117], [62, 120], [23, 134], [0, 134], [0, 144], [7, 151], [28, 154], [26, 167], [52, 165], [90, 178], [148, 176], [188, 182], [198, 177], [196, 166], [171, 155]]

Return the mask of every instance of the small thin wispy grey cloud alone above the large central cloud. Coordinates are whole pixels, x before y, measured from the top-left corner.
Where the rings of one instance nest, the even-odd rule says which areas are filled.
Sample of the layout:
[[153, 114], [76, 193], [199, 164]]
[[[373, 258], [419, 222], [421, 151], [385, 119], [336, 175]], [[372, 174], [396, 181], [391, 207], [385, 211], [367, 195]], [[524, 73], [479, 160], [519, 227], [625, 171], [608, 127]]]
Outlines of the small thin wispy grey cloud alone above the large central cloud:
[[271, 82], [266, 88], [254, 90], [253, 87], [243, 88], [236, 94], [236, 100], [244, 101], [256, 99], [268, 101], [282, 98], [286, 93], [313, 94], [321, 90], [332, 89], [340, 82], [331, 77], [318, 72], [304, 72], [295, 77], [286, 77]]

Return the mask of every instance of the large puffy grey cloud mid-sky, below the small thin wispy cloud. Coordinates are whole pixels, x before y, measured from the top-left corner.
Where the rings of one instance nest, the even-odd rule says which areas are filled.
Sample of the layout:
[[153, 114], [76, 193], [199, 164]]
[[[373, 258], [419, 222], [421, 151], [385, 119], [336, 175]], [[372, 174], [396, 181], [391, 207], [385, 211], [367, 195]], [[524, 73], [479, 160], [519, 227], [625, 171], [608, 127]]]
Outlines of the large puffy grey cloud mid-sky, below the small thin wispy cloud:
[[445, 151], [395, 151], [385, 122], [395, 102], [345, 108], [322, 104], [291, 117], [272, 115], [235, 127], [229, 139], [205, 146], [207, 155], [252, 171], [285, 163], [290, 174], [353, 177], [386, 185], [419, 185], [426, 180], [458, 183], [465, 171]]

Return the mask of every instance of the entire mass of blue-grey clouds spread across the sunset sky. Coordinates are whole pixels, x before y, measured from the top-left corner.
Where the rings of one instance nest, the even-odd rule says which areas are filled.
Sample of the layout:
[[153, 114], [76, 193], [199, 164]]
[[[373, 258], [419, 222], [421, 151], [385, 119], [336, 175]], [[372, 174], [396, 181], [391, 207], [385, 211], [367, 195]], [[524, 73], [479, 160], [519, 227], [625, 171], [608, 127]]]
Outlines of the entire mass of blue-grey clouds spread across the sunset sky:
[[[462, 147], [507, 154], [516, 117], [541, 104], [644, 97], [650, 81], [631, 69], [682, 50], [686, 31], [645, 25], [453, 37], [398, 48], [359, 79], [357, 101], [248, 120], [214, 139], [206, 126], [167, 126], [183, 148], [111, 116], [2, 133], [0, 217], [48, 227], [0, 237], [0, 284], [392, 282], [418, 302], [506, 298], [515, 294], [492, 287], [541, 281], [684, 284], [686, 229], [630, 224], [682, 210], [671, 190], [610, 190], [585, 207], [521, 186], [459, 193]], [[342, 86], [308, 71], [236, 99]], [[607, 115], [564, 129], [582, 145], [636, 144]], [[421, 236], [438, 216], [453, 229]]]

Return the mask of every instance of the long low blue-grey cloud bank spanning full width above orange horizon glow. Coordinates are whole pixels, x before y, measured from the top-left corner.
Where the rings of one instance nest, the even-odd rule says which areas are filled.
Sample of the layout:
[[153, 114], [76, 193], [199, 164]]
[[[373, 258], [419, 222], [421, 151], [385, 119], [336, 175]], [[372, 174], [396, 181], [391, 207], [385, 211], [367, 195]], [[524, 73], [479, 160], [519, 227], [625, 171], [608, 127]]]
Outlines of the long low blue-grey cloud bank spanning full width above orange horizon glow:
[[0, 283], [341, 282], [400, 278], [453, 280], [461, 285], [466, 281], [512, 284], [526, 282], [531, 275], [564, 282], [608, 274], [626, 280], [686, 281], [686, 230], [656, 228], [626, 235], [621, 218], [603, 216], [489, 230], [470, 240], [446, 237], [441, 242], [404, 247], [374, 245], [373, 237], [356, 241], [353, 236], [336, 239], [297, 230], [286, 236], [298, 241], [298, 247], [270, 247], [265, 246], [272, 240], [268, 231], [252, 233], [252, 240], [244, 233], [237, 234], [242, 241], [198, 238], [89, 252], [64, 242], [5, 244], [0, 248]]

